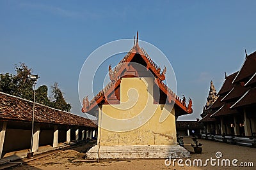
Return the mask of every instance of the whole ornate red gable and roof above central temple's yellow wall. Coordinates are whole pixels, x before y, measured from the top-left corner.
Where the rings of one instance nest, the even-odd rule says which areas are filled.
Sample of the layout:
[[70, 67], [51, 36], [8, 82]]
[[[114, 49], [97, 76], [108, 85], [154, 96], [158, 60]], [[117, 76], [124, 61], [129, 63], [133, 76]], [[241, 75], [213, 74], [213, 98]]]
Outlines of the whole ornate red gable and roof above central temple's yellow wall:
[[112, 68], [109, 69], [109, 79], [111, 80], [104, 89], [102, 89], [92, 101], [89, 102], [88, 97], [84, 97], [82, 111], [95, 115], [97, 106], [102, 104], [120, 104], [120, 80], [123, 77], [148, 77], [153, 75], [157, 89], [160, 90], [160, 96], [154, 99], [154, 104], [170, 104], [175, 103], [179, 115], [192, 113], [192, 100], [189, 98], [188, 106], [186, 106], [186, 98], [179, 98], [167, 85], [165, 80], [166, 67], [161, 69], [150, 58], [148, 53], [139, 46], [138, 32], [137, 39], [134, 39], [134, 46], [125, 55], [125, 57]]

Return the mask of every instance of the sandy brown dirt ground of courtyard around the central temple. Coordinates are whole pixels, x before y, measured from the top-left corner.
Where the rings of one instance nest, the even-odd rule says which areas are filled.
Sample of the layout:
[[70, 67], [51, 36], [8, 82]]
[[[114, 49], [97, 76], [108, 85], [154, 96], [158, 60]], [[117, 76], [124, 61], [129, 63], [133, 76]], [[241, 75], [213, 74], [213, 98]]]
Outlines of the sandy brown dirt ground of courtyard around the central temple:
[[[124, 161], [104, 161], [104, 162], [72, 162], [79, 157], [84, 156], [86, 152], [86, 145], [65, 150], [54, 155], [49, 155], [41, 159], [33, 160], [22, 166], [13, 167], [12, 169], [256, 169], [256, 148], [250, 148], [246, 146], [229, 145], [226, 143], [207, 141], [199, 139], [199, 142], [203, 144], [202, 154], [193, 153], [191, 138], [184, 138], [185, 148], [191, 152], [191, 165], [186, 166], [185, 162], [189, 164], [188, 159], [182, 159], [184, 166], [177, 164], [178, 159], [175, 161], [175, 165], [166, 166], [164, 164], [165, 159], [136, 159], [136, 160], [124, 160]], [[88, 147], [88, 145], [87, 145]], [[216, 159], [216, 152], [221, 152], [222, 157]], [[211, 162], [207, 162], [207, 166], [193, 166], [193, 160], [202, 159], [202, 164], [205, 164], [206, 159], [216, 159], [216, 166], [211, 166]], [[223, 159], [230, 160], [230, 167], [221, 166]], [[232, 166], [232, 160], [237, 159], [237, 167]], [[220, 166], [218, 166], [218, 160]], [[253, 162], [254, 167], [241, 167], [240, 163], [244, 165], [248, 162]], [[169, 163], [168, 161], [166, 163]], [[196, 163], [196, 162], [195, 162]], [[214, 164], [214, 162], [212, 162]], [[250, 164], [250, 163], [249, 163]]]

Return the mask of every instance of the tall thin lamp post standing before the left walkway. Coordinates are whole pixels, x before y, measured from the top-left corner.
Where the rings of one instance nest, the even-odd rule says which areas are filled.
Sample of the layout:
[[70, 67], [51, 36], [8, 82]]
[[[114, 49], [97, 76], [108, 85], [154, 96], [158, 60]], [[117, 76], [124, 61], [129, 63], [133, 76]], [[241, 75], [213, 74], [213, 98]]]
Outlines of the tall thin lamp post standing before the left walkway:
[[34, 155], [33, 152], [33, 132], [34, 132], [34, 119], [35, 119], [35, 89], [36, 89], [36, 80], [38, 79], [38, 75], [29, 74], [29, 79], [33, 82], [33, 91], [34, 91], [34, 97], [33, 97], [33, 114], [32, 114], [32, 132], [31, 132], [31, 145], [30, 150], [28, 152], [27, 158], [31, 159]]

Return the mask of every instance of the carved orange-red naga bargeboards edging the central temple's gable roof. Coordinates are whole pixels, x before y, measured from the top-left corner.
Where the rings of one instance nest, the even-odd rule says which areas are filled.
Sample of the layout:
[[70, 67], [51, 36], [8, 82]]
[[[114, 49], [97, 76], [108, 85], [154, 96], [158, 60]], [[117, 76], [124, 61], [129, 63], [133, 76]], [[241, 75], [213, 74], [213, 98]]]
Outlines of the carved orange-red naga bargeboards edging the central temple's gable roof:
[[[184, 111], [184, 114], [192, 113], [192, 100], [189, 98], [188, 100], [188, 106], [186, 106], [186, 98], [183, 96], [182, 99], [180, 99], [179, 96], [177, 96], [171, 89], [168, 88], [168, 86], [163, 82], [165, 80], [165, 74], [166, 74], [166, 67], [164, 66], [163, 71], [161, 71], [161, 68], [157, 66], [157, 64], [150, 58], [148, 53], [139, 46], [138, 43], [138, 32], [137, 32], [137, 39], [135, 42], [134, 39], [134, 46], [131, 48], [131, 50], [125, 55], [125, 57], [116, 65], [116, 67], [112, 68], [111, 65], [109, 65], [109, 79], [111, 80], [104, 89], [100, 90], [100, 92], [93, 97], [93, 99], [89, 102], [88, 96], [84, 97], [83, 99], [83, 112], [90, 113], [90, 111], [97, 106], [98, 104], [102, 103], [108, 103], [105, 96], [108, 96], [115, 90], [115, 87], [120, 85], [120, 75], [122, 72], [126, 69], [129, 70], [129, 62], [134, 58], [134, 55], [140, 54], [141, 58], [147, 63], [147, 71], [150, 69], [152, 74], [155, 76], [155, 83], [161, 89], [164, 94], [168, 97], [167, 101], [171, 103], [172, 101], [175, 102], [179, 108]], [[182, 114], [182, 115], [184, 115]]]

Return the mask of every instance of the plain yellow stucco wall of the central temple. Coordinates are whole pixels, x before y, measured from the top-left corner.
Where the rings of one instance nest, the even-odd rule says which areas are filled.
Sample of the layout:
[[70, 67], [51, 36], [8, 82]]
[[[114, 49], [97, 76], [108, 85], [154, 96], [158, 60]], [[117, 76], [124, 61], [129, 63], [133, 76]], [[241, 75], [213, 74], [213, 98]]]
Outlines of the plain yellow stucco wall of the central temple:
[[153, 104], [153, 78], [122, 78], [120, 104], [99, 109], [98, 145], [175, 145], [175, 111]]

